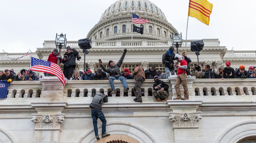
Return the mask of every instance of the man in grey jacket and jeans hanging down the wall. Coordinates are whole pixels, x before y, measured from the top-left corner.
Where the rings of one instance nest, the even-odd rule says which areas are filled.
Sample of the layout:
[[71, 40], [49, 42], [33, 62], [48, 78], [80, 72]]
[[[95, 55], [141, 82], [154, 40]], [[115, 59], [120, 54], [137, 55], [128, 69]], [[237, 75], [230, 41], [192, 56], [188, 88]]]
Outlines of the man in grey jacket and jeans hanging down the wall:
[[106, 124], [107, 124], [107, 120], [104, 116], [104, 114], [101, 111], [101, 107], [102, 107], [102, 103], [105, 103], [108, 101], [107, 99], [107, 95], [104, 95], [103, 93], [98, 93], [96, 94], [93, 99], [92, 102], [90, 104], [90, 108], [92, 110], [92, 122], [93, 122], [93, 127], [94, 127], [94, 132], [95, 132], [95, 137], [97, 140], [100, 140], [99, 134], [98, 134], [98, 126], [97, 126], [97, 120], [98, 118], [101, 120], [102, 122], [102, 135], [101, 137], [105, 137], [105, 136], [109, 136], [110, 134], [106, 133]]

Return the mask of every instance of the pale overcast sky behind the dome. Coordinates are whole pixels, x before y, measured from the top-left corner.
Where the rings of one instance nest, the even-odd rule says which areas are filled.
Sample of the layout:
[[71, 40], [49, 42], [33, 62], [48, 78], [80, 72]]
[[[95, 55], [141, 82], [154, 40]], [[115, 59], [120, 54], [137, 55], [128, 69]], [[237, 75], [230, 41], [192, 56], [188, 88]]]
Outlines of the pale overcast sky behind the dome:
[[[0, 52], [35, 52], [44, 40], [66, 33], [69, 40], [85, 38], [102, 13], [116, 0], [2, 0]], [[185, 39], [189, 0], [150, 0]], [[219, 39], [228, 50], [255, 50], [256, 0], [209, 0], [209, 26], [189, 17], [187, 39]]]

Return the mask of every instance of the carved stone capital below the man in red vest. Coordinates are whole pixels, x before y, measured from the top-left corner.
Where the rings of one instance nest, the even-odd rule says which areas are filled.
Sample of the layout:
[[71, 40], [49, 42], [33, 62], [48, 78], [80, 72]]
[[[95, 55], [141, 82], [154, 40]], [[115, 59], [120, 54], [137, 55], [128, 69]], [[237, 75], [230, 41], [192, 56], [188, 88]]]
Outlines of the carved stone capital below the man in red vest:
[[[169, 113], [169, 119], [173, 122], [173, 128], [182, 128], [182, 127], [199, 127], [198, 121], [202, 119], [202, 112], [194, 112], [194, 113]], [[191, 114], [191, 115], [190, 115]]]

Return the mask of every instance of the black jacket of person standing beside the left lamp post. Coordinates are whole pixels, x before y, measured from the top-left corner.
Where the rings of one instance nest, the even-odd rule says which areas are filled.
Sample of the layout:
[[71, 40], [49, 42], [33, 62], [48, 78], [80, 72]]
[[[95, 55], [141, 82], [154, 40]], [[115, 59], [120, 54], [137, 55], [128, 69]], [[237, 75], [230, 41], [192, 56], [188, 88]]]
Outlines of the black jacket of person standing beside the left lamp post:
[[66, 52], [63, 54], [64, 57], [65, 55], [68, 56], [68, 59], [65, 61], [64, 57], [62, 59], [62, 64], [64, 64], [63, 68], [69, 67], [69, 66], [76, 66], [76, 56], [78, 55], [78, 51], [76, 49], [72, 49], [70, 53]]

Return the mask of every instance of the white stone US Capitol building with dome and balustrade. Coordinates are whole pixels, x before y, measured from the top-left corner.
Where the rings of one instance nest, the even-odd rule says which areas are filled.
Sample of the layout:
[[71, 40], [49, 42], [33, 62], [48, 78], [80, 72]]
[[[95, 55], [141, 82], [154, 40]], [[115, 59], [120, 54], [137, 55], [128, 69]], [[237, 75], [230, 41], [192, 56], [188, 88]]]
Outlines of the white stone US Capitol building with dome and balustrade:
[[[131, 41], [132, 12], [150, 23], [136, 24], [144, 27], [144, 34], [134, 32]], [[172, 33], [178, 32], [168, 23], [164, 12], [148, 0], [119, 0], [107, 7], [99, 23], [88, 33], [92, 39], [86, 67], [97, 71], [98, 60], [107, 66], [109, 60], [117, 62], [124, 48], [126, 57], [121, 70], [131, 72], [135, 66], [148, 69], [152, 64], [165, 73], [162, 55], [171, 46]], [[191, 70], [197, 56], [190, 51]], [[246, 70], [256, 65], [256, 51], [234, 51], [220, 46], [218, 39], [203, 39], [204, 49], [199, 63], [214, 69], [230, 61], [231, 67], [244, 64]], [[78, 41], [68, 41], [82, 59], [76, 69], [83, 71], [83, 52]], [[55, 41], [44, 41], [19, 60], [24, 53], [1, 53], [1, 70], [29, 69], [30, 58], [47, 60], [55, 48]], [[66, 49], [62, 49], [64, 53]], [[185, 51], [185, 42], [179, 52]], [[176, 52], [176, 51], [175, 51]], [[3, 55], [5, 54], [5, 55]], [[61, 65], [63, 67], [63, 65]], [[95, 71], [96, 70], [96, 71]], [[204, 68], [202, 68], [204, 71]], [[43, 73], [36, 73], [42, 75]], [[123, 96], [121, 81], [115, 81], [120, 97], [109, 97], [102, 111], [107, 120], [107, 133], [97, 141], [94, 134], [91, 109], [92, 92], [111, 91], [109, 81], [68, 81], [63, 87], [56, 77], [40, 81], [14, 81], [8, 87], [7, 98], [0, 99], [0, 143], [256, 143], [256, 82], [250, 79], [195, 79], [187, 78], [190, 100], [174, 101], [175, 76], [163, 79], [169, 85], [170, 96], [166, 102], [153, 102], [154, 80], [142, 84], [143, 103], [135, 103], [131, 89], [134, 80], [127, 80], [128, 97]], [[180, 85], [182, 95], [183, 87]], [[69, 93], [71, 92], [71, 97]], [[195, 94], [197, 92], [197, 96]], [[148, 96], [151, 95], [151, 96]], [[102, 123], [98, 120], [99, 133]], [[101, 138], [101, 135], [100, 135]], [[119, 140], [119, 142], [118, 142]], [[114, 142], [115, 141], [115, 142]]]

